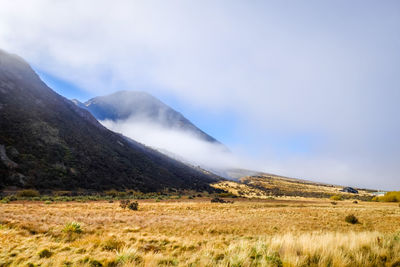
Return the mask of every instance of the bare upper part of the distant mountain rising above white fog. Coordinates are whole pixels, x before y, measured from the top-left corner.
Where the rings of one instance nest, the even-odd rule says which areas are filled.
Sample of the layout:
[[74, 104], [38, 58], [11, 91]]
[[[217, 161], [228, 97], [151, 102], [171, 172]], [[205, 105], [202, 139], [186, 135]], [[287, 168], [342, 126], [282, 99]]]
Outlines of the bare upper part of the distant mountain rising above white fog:
[[139, 91], [118, 91], [111, 95], [99, 96], [80, 103], [98, 120], [146, 120], [167, 129], [188, 132], [204, 141], [220, 144], [215, 138], [206, 134], [181, 113], [164, 104], [154, 96]]

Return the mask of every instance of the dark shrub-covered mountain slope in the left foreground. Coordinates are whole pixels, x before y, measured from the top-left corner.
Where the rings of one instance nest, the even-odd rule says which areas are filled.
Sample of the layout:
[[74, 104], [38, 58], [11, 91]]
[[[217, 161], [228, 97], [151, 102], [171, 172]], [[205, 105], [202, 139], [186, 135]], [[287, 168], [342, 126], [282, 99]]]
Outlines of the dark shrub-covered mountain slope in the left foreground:
[[0, 50], [0, 187], [211, 190], [216, 180], [103, 127]]

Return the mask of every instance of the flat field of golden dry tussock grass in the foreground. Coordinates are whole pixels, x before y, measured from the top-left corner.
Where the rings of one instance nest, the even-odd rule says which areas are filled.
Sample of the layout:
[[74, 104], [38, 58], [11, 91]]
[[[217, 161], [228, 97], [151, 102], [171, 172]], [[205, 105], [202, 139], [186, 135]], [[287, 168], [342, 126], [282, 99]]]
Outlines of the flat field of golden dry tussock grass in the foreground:
[[0, 266], [400, 266], [396, 203], [17, 201], [0, 223]]

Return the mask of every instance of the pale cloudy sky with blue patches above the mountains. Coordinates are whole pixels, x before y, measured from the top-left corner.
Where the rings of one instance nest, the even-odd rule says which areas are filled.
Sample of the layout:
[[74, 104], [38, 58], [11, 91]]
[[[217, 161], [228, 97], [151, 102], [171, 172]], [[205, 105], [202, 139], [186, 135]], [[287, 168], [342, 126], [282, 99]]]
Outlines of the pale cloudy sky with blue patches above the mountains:
[[399, 190], [399, 14], [390, 0], [0, 0], [0, 47], [68, 98], [149, 92], [259, 170]]

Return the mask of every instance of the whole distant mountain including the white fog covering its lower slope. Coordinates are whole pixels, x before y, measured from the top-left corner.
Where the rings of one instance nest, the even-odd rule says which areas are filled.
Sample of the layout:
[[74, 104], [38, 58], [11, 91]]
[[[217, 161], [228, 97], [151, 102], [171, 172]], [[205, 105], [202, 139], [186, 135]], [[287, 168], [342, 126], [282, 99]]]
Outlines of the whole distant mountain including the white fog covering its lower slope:
[[89, 110], [108, 129], [154, 147], [183, 162], [222, 173], [243, 162], [215, 138], [154, 96], [118, 91], [75, 104]]

